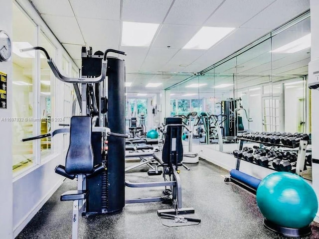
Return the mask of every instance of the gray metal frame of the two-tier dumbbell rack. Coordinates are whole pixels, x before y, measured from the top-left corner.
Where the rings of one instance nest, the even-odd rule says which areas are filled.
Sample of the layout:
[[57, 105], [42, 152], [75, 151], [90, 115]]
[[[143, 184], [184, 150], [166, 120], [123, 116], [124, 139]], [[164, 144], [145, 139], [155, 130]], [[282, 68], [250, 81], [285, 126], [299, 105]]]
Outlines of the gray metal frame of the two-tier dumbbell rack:
[[[296, 143], [293, 146], [284, 145], [282, 143], [274, 144], [274, 143], [269, 143], [269, 142], [262, 142], [262, 141], [257, 141], [257, 140], [253, 140], [253, 139], [248, 139], [248, 138], [241, 138], [241, 137], [237, 137], [237, 140], [239, 140], [239, 150], [243, 149], [244, 141], [259, 143], [259, 144], [265, 145], [265, 146], [277, 146], [277, 147], [285, 147], [285, 148], [297, 148], [297, 147], [299, 147], [298, 156], [297, 156], [297, 164], [296, 164], [296, 174], [301, 176], [302, 172], [304, 171], [308, 140], [300, 140], [299, 143]], [[240, 161], [244, 160], [244, 159], [243, 158], [239, 158], [239, 157], [235, 157], [235, 158], [237, 158], [236, 169], [239, 170]], [[246, 160], [244, 160], [244, 161], [246, 161]], [[246, 161], [246, 162], [248, 162], [248, 161]], [[250, 163], [256, 164], [255, 162], [250, 162]], [[260, 165], [258, 165], [258, 166], [260, 166]], [[269, 169], [275, 170], [272, 166], [266, 166], [266, 167], [269, 168]]]

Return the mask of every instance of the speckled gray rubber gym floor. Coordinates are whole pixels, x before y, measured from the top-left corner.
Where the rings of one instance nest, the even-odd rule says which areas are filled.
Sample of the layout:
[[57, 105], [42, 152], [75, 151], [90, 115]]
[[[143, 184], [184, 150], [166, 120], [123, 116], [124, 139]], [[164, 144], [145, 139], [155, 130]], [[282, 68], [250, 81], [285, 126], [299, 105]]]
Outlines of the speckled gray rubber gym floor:
[[[128, 163], [127, 166], [132, 165]], [[99, 215], [80, 219], [81, 239], [282, 239], [263, 226], [263, 216], [255, 196], [232, 183], [224, 183], [220, 175], [228, 172], [200, 160], [181, 169], [183, 207], [193, 207], [202, 220], [197, 226], [167, 228], [162, 226], [157, 210], [170, 208], [161, 203], [126, 205], [117, 215]], [[127, 173], [132, 182], [157, 181], [147, 167]], [[17, 239], [71, 238], [72, 202], [60, 202], [60, 195], [75, 189], [76, 181], [66, 180], [41, 208]], [[127, 188], [126, 197], [158, 196], [158, 188]], [[313, 223], [309, 239], [319, 239], [319, 225]], [[308, 239], [307, 238], [307, 239]]]

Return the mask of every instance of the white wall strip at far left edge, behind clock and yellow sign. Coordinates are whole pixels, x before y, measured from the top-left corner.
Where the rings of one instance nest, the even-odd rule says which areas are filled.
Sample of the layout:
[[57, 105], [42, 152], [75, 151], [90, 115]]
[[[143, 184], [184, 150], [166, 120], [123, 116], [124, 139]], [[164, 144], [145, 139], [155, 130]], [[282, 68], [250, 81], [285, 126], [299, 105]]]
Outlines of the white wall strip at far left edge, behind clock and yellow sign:
[[[5, 30], [12, 37], [12, 1], [1, 0], [0, 30]], [[0, 62], [0, 71], [7, 74], [7, 109], [0, 109], [0, 119], [12, 115], [12, 58], [8, 62]], [[12, 154], [11, 124], [0, 121], [0, 238], [12, 238]]]

